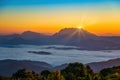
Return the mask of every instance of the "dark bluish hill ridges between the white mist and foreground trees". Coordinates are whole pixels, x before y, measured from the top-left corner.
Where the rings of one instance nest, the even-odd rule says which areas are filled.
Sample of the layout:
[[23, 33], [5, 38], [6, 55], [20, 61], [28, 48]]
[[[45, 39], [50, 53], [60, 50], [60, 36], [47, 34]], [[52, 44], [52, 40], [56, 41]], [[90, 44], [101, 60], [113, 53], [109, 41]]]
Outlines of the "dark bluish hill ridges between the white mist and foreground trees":
[[[113, 66], [120, 66], [120, 58], [113, 59], [104, 62], [93, 62], [86, 64], [89, 65], [94, 72], [99, 72], [104, 68], [111, 68]], [[1, 60], [0, 61], [0, 75], [11, 76], [19, 69], [27, 69], [29, 71], [35, 71], [37, 73], [43, 70], [62, 70], [66, 68], [68, 64], [62, 64], [60, 66], [52, 66], [45, 62], [38, 61], [18, 61], [18, 60]]]

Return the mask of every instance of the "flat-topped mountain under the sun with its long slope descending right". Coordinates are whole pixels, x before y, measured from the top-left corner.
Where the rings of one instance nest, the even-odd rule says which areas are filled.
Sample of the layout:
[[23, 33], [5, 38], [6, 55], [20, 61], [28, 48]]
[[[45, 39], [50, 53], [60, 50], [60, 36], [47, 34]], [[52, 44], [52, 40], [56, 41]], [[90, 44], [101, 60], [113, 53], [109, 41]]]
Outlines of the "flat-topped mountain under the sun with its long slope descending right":
[[116, 49], [119, 46], [112, 41], [105, 40], [103, 37], [77, 28], [62, 29], [52, 37], [55, 44], [79, 46], [80, 49], [87, 50], [113, 49], [113, 47]]

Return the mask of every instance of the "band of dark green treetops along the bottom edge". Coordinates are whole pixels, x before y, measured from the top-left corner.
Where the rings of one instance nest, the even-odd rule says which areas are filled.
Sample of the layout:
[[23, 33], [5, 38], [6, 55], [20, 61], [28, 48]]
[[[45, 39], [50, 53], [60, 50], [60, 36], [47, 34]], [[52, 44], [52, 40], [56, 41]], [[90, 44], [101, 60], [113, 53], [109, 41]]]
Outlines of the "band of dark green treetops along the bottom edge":
[[120, 66], [106, 68], [94, 73], [89, 66], [81, 63], [70, 63], [63, 70], [44, 70], [40, 74], [20, 69], [10, 78], [0, 76], [0, 80], [120, 80]]

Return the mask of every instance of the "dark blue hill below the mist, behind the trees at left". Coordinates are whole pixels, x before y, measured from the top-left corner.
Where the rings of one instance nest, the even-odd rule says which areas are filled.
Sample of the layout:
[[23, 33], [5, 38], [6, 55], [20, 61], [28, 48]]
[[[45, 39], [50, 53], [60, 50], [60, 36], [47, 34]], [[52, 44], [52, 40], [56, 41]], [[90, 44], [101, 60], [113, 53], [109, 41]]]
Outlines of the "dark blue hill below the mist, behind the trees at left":
[[53, 67], [48, 63], [39, 61], [0, 60], [0, 75], [11, 76], [17, 70], [23, 68], [39, 73], [42, 70], [51, 70]]

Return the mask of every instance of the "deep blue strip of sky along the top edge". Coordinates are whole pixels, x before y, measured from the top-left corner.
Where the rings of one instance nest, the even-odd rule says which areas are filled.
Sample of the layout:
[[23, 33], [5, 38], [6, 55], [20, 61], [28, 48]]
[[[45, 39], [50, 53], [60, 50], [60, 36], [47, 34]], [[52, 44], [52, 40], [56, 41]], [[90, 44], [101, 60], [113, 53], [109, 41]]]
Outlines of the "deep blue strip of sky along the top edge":
[[120, 0], [0, 0], [1, 6], [48, 5], [48, 4], [86, 4], [86, 3], [120, 3]]

